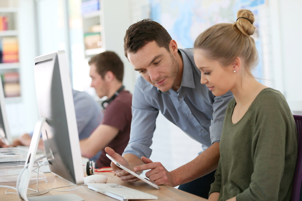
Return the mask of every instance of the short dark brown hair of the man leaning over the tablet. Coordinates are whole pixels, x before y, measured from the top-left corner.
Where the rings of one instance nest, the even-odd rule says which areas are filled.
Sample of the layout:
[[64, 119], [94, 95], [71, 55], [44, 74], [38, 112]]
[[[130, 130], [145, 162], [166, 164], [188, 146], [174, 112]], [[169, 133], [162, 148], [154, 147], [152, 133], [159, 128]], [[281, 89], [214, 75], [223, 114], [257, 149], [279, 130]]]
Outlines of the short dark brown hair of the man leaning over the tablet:
[[159, 47], [164, 47], [170, 52], [169, 43], [172, 40], [167, 30], [159, 23], [144, 19], [132, 24], [126, 31], [124, 37], [124, 51], [127, 53], [136, 53], [141, 47], [151, 41], [155, 41]]

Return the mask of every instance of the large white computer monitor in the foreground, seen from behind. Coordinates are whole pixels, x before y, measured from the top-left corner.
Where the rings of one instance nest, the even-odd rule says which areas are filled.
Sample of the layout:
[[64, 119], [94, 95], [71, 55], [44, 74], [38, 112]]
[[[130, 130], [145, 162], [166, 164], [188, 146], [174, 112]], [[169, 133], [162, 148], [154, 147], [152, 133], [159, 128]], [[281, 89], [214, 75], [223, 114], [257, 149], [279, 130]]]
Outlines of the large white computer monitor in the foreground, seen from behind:
[[[41, 130], [50, 171], [73, 184], [83, 184], [82, 157], [65, 52], [36, 57], [34, 77], [40, 119], [34, 130], [27, 163], [34, 160]], [[31, 170], [27, 171], [28, 175]], [[27, 187], [27, 181], [21, 182], [22, 198], [26, 197]]]

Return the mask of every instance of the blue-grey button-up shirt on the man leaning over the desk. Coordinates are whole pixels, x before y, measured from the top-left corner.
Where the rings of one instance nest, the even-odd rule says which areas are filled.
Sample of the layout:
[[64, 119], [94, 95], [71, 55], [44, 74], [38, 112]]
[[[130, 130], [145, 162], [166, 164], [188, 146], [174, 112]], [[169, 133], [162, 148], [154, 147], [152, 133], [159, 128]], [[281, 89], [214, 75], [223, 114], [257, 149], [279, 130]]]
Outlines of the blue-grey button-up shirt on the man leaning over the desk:
[[133, 90], [130, 140], [123, 154], [150, 157], [153, 133], [159, 111], [188, 136], [202, 144], [202, 151], [220, 141], [224, 113], [233, 98], [229, 91], [214, 96], [200, 83], [201, 72], [196, 67], [193, 49], [179, 49], [183, 60], [180, 88], [175, 92], [158, 90], [139, 77]]

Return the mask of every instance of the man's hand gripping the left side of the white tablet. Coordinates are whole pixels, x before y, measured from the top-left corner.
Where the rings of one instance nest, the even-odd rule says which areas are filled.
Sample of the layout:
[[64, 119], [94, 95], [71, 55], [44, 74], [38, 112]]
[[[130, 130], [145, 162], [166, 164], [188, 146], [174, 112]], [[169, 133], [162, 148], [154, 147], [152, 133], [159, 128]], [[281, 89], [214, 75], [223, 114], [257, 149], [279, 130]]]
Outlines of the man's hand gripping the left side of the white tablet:
[[[110, 147], [106, 147], [105, 151], [109, 155], [111, 155], [111, 157], [114, 158], [120, 164], [129, 165], [129, 163], [127, 162], [127, 160], [123, 156], [116, 153]], [[110, 166], [113, 169], [113, 171], [115, 172], [116, 176], [120, 177], [120, 180], [127, 181], [127, 182], [135, 182], [135, 181], [140, 180], [139, 178], [137, 178], [137, 177], [133, 176], [132, 174], [128, 173], [127, 171], [117, 167], [113, 162], [111, 162]]]

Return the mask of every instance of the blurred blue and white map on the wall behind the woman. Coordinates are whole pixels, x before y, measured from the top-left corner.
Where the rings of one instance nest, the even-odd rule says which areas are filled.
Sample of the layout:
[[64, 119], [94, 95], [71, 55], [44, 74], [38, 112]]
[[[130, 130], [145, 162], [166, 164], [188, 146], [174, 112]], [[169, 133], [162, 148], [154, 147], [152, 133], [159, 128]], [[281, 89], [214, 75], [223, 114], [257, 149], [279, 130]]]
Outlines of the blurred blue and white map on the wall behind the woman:
[[[150, 18], [165, 27], [179, 48], [191, 48], [196, 37], [210, 26], [236, 21], [236, 13], [241, 8], [249, 9], [257, 16], [258, 7], [264, 4], [265, 0], [150, 0]], [[253, 71], [256, 78], [262, 78], [263, 70], [259, 20], [254, 23], [256, 31], [253, 35], [259, 53], [259, 64]]]

